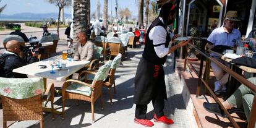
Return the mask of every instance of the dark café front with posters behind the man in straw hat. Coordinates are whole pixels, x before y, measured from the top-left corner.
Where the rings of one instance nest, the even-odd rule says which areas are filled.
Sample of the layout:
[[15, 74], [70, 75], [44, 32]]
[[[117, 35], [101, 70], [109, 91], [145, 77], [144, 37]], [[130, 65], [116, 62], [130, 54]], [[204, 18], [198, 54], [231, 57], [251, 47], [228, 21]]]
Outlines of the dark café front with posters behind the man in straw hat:
[[241, 35], [248, 36], [252, 29], [256, 29], [255, 0], [180, 0], [177, 5], [176, 32], [183, 36], [191, 36], [190, 28], [197, 27], [201, 37], [207, 38], [213, 28], [223, 25], [228, 11], [237, 11], [241, 18], [237, 23]]

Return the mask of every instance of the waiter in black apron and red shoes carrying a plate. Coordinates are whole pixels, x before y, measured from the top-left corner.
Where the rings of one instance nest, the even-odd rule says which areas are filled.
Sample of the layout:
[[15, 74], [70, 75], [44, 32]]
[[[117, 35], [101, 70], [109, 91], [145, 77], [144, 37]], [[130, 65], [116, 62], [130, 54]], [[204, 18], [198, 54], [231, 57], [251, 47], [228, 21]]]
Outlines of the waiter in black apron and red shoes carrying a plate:
[[135, 75], [134, 103], [136, 104], [134, 122], [151, 127], [153, 122], [146, 118], [147, 104], [153, 102], [154, 121], [173, 124], [173, 120], [164, 116], [164, 100], [167, 99], [164, 82], [163, 64], [169, 53], [187, 45], [190, 40], [168, 48], [171, 37], [167, 25], [174, 22], [176, 7], [168, 2], [161, 7], [159, 16], [151, 23], [146, 35], [143, 57], [140, 59]]

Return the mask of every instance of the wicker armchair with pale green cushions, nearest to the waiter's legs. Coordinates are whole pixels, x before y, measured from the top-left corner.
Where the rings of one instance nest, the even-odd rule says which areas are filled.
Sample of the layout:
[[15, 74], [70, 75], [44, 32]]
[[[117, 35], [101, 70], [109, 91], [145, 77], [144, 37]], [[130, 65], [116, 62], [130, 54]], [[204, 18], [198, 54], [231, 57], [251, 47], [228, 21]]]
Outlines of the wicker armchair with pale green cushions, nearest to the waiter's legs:
[[[98, 98], [101, 98], [101, 108], [103, 109], [102, 95], [102, 84], [103, 80], [106, 79], [111, 61], [108, 61], [104, 66], [100, 67], [99, 71], [95, 74], [95, 78], [91, 84], [80, 81], [80, 77], [84, 75], [87, 78], [88, 74], [94, 74], [89, 70], [84, 70], [79, 74], [79, 80], [66, 80], [62, 87], [62, 119], [64, 119], [64, 108], [66, 99], [76, 99], [91, 102], [92, 106], [92, 122], [94, 119], [94, 103]], [[71, 84], [70, 84], [71, 83]], [[77, 101], [78, 103], [78, 101]]]

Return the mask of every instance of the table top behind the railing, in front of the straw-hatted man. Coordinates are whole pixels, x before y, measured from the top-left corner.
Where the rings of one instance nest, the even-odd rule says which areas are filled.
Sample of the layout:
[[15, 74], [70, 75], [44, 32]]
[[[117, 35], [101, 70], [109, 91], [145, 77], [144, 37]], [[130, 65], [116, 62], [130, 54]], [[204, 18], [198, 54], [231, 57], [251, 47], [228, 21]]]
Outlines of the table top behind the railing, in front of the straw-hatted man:
[[[223, 59], [223, 60], [226, 61], [226, 62], [232, 61], [232, 59], [229, 59], [229, 58], [223, 56], [223, 54], [221, 54], [221, 53], [212, 51], [211, 49], [209, 49], [208, 51], [209, 51], [210, 53], [216, 54], [216, 56], [220, 56], [221, 59]], [[239, 66], [239, 65], [236, 65], [236, 66], [239, 67], [240, 69], [244, 70], [245, 72], [256, 73], [256, 69], [255, 69], [255, 68], [247, 67], [247, 66]]]

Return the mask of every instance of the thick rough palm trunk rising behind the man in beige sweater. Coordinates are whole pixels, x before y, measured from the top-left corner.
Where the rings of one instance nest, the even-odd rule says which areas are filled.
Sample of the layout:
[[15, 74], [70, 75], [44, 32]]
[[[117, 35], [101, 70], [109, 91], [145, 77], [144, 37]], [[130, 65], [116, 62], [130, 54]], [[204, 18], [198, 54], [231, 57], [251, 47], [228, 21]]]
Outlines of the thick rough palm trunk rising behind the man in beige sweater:
[[86, 31], [90, 24], [90, 0], [74, 0], [74, 37], [80, 31]]

